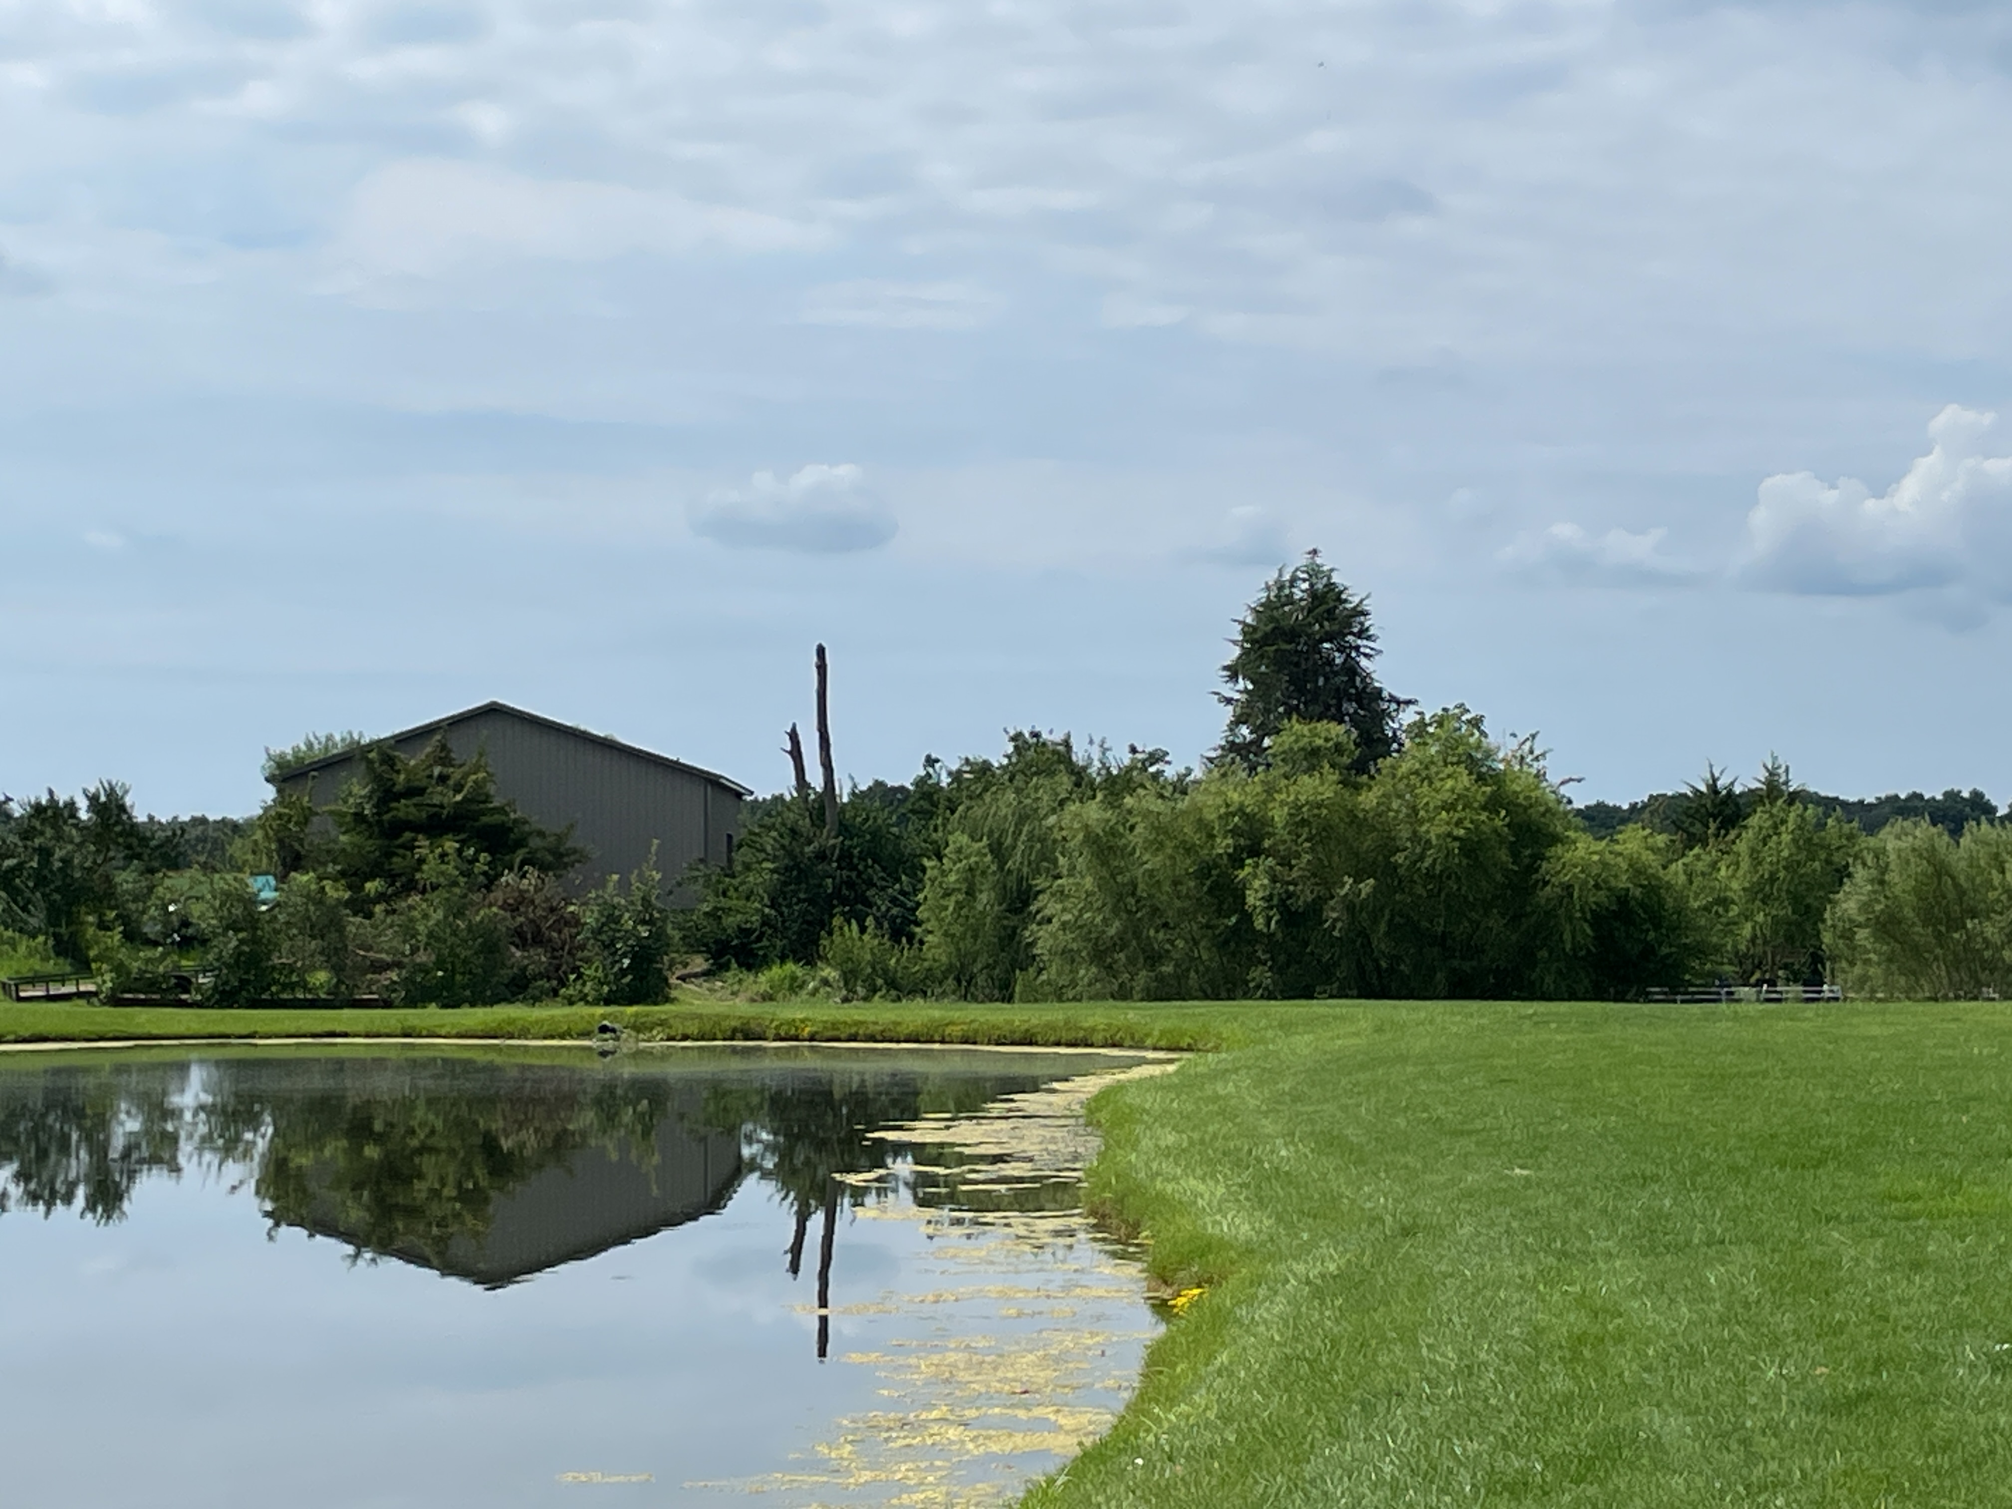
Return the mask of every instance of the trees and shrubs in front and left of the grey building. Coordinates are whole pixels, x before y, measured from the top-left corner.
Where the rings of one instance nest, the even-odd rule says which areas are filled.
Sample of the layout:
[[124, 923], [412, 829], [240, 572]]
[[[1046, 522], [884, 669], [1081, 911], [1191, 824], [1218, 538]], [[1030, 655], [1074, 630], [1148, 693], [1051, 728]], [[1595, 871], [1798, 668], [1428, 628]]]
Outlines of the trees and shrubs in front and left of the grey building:
[[664, 998], [654, 871], [571, 895], [559, 877], [581, 851], [445, 740], [358, 765], [326, 815], [276, 795], [235, 825], [137, 819], [115, 783], [0, 803], [0, 968], [211, 1006]]

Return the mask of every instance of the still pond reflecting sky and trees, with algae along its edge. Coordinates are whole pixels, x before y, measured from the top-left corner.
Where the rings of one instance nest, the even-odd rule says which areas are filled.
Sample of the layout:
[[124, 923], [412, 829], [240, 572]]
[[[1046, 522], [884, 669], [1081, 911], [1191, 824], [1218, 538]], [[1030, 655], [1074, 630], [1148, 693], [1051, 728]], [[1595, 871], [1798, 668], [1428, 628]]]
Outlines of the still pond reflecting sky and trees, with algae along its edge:
[[1078, 1175], [1157, 1068], [0, 1054], [0, 1503], [1008, 1501], [1153, 1332]]

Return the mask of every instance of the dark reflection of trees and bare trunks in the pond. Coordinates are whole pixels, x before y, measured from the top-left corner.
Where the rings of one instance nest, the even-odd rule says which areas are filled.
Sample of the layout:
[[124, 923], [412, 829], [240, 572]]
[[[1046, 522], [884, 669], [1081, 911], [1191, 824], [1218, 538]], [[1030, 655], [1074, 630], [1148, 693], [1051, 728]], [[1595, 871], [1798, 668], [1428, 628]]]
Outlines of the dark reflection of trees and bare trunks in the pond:
[[[690, 1091], [704, 1082], [692, 1117]], [[907, 1159], [881, 1127], [960, 1117], [1040, 1076], [881, 1066], [734, 1064], [694, 1080], [626, 1066], [477, 1058], [215, 1058], [0, 1070], [0, 1211], [78, 1209], [117, 1221], [143, 1177], [203, 1169], [249, 1181], [268, 1219], [340, 1235], [358, 1253], [447, 1270], [481, 1243], [499, 1201], [583, 1149], [652, 1167], [666, 1117], [738, 1137], [744, 1165], [791, 1209], [785, 1264], [819, 1221], [819, 1356], [829, 1344], [841, 1207], [883, 1199], [851, 1183]], [[680, 1097], [680, 1086], [684, 1095]], [[946, 1149], [932, 1149], [942, 1163]], [[730, 1169], [728, 1169], [730, 1173]], [[917, 1195], [956, 1199], [954, 1177]], [[730, 1187], [730, 1185], [728, 1185]]]

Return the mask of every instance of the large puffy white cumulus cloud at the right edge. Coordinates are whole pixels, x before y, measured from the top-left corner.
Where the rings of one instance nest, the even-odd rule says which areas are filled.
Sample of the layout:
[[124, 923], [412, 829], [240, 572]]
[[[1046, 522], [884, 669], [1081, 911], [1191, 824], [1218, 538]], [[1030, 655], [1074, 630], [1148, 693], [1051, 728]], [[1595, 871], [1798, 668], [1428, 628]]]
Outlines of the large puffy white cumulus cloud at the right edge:
[[1927, 455], [1877, 497], [1855, 477], [1769, 477], [1746, 515], [1736, 579], [1821, 596], [2002, 596], [2012, 577], [2012, 455], [1990, 455], [1996, 423], [1950, 404], [1927, 427]]

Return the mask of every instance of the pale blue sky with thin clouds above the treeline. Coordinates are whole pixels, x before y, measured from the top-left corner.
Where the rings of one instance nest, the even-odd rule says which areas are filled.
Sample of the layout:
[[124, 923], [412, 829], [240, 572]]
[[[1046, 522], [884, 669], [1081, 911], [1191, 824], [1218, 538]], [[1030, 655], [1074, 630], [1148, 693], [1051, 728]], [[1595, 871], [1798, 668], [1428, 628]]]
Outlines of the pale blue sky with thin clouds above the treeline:
[[2006, 801], [2008, 143], [1964, 0], [0, 0], [0, 791], [1195, 763], [1318, 547], [1581, 801]]

